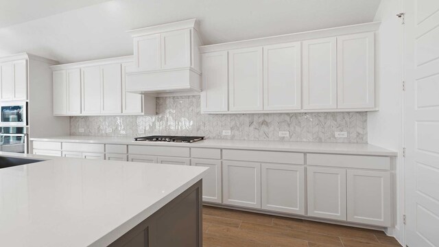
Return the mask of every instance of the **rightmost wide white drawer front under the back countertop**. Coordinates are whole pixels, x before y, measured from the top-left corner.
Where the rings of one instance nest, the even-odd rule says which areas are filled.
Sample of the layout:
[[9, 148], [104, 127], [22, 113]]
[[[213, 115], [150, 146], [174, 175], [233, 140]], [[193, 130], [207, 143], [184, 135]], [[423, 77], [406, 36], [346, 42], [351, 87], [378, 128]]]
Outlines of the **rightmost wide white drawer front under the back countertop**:
[[390, 157], [340, 154], [307, 154], [307, 165], [389, 170]]

